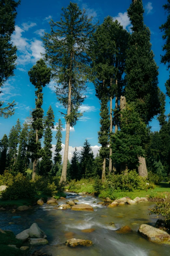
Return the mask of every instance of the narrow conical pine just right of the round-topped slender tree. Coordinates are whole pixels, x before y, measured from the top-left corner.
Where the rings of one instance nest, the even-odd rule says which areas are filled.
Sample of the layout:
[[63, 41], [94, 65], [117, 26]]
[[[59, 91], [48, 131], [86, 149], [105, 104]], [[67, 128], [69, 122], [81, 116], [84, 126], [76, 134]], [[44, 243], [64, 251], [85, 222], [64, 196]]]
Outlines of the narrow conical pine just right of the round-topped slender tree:
[[47, 116], [45, 118], [45, 134], [44, 134], [44, 148], [43, 148], [43, 156], [41, 160], [41, 169], [39, 174], [41, 175], [47, 175], [52, 167], [52, 131], [51, 129], [54, 129], [54, 112], [51, 108], [49, 107], [47, 111]]

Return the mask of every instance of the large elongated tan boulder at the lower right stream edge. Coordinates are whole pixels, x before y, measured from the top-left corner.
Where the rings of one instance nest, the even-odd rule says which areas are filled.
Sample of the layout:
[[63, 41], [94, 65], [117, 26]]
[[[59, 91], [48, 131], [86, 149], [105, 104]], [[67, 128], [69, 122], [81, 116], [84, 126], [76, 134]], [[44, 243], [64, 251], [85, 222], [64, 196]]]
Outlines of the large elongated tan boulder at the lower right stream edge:
[[156, 229], [147, 224], [142, 224], [140, 225], [138, 232], [147, 237], [152, 242], [170, 244], [170, 235], [163, 230]]

